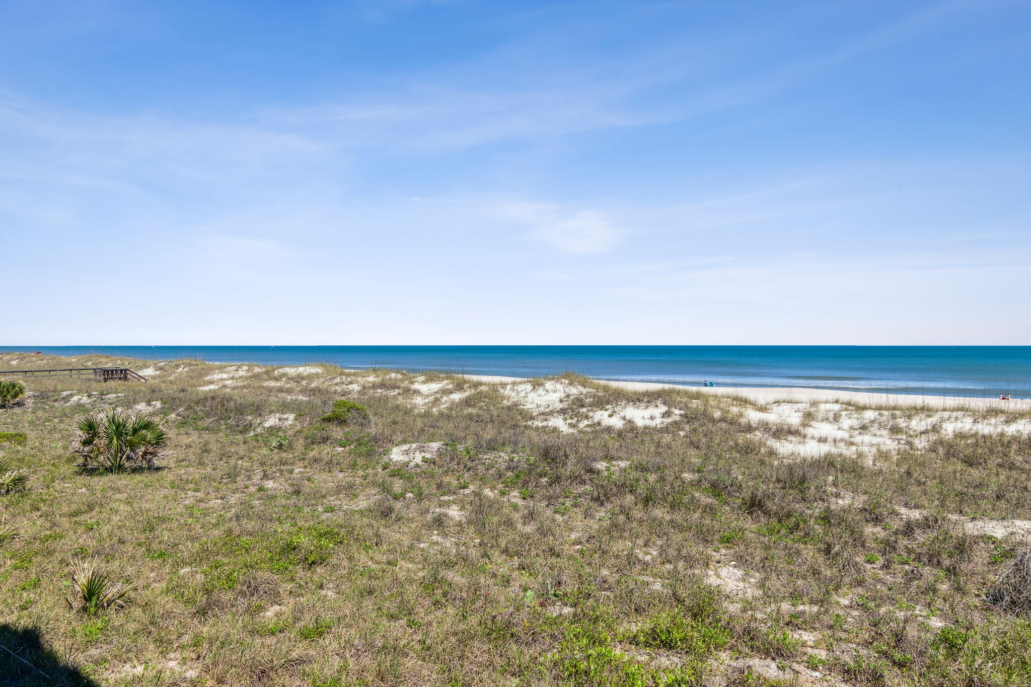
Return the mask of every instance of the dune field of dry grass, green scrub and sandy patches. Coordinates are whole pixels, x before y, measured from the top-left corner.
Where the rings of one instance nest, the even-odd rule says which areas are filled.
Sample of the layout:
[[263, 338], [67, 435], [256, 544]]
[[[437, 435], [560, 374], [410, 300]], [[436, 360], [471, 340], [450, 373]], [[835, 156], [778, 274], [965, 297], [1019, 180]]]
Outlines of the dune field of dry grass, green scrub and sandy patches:
[[1028, 414], [0, 355], [94, 365], [0, 409], [9, 684], [1031, 684]]

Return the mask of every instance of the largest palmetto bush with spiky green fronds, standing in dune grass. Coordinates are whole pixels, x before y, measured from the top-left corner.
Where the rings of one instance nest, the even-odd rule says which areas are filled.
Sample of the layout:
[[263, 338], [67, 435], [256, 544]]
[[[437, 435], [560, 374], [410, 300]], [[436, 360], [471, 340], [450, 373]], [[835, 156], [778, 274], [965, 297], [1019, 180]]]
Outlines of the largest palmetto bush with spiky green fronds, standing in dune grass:
[[168, 435], [153, 417], [118, 410], [80, 417], [75, 430], [75, 452], [82, 456], [80, 465], [92, 467], [92, 460], [112, 473], [154, 468], [168, 443]]

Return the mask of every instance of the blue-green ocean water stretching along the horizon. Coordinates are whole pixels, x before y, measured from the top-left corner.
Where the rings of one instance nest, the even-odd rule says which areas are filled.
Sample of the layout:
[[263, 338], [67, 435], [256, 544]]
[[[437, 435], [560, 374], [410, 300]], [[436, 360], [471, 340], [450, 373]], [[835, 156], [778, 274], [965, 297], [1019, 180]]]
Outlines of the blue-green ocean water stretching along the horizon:
[[[532, 377], [1031, 397], [1031, 346], [0, 346], [2, 351]], [[145, 367], [145, 366], [141, 366]]]

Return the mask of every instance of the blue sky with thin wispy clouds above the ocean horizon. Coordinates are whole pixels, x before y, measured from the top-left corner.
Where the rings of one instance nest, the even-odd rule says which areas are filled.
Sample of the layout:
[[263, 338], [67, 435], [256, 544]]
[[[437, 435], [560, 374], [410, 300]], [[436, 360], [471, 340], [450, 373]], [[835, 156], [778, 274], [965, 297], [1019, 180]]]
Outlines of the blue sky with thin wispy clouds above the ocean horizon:
[[0, 0], [0, 343], [1031, 344], [1029, 74], [1025, 0]]

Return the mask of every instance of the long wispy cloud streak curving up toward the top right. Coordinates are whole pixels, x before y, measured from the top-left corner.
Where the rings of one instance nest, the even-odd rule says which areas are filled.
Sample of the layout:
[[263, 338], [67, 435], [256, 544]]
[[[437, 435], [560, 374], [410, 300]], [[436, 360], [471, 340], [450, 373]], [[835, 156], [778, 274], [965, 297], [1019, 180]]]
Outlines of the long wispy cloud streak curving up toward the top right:
[[[366, 4], [386, 11], [436, 3], [370, 0]], [[427, 68], [379, 92], [266, 108], [255, 118], [270, 130], [303, 132], [342, 148], [420, 152], [665, 125], [768, 100], [836, 66], [917, 38], [972, 7], [968, 0], [930, 4], [854, 35], [833, 49], [801, 51], [787, 62], [742, 72], [727, 72], [725, 67], [739, 61], [740, 50], [749, 49], [739, 36], [734, 41], [708, 38], [702, 45], [697, 40], [639, 45], [618, 58], [596, 55], [590, 64], [553, 63], [546, 55], [555, 46], [525, 40], [479, 56], [474, 66]], [[569, 25], [563, 30], [575, 35], [580, 28]], [[780, 30], [794, 33], [799, 27]], [[512, 68], [517, 64], [519, 70]]]

